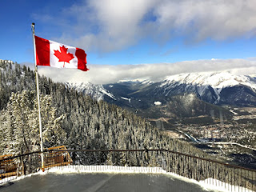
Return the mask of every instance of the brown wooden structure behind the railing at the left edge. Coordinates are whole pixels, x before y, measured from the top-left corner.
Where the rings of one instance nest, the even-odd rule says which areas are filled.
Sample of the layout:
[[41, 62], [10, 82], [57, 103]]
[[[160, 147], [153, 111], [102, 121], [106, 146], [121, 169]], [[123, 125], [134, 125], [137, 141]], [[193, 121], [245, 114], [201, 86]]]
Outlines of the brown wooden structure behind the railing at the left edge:
[[11, 154], [0, 155], [0, 179], [17, 175], [17, 162]]

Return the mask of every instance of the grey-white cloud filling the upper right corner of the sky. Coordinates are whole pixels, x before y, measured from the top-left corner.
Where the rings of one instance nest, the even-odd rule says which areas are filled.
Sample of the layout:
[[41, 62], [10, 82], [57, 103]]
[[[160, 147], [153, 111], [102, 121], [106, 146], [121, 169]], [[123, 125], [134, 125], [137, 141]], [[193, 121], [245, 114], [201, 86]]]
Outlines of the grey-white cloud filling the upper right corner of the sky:
[[182, 0], [164, 1], [154, 10], [162, 30], [190, 34], [201, 41], [206, 38], [234, 38], [256, 29], [254, 0]]

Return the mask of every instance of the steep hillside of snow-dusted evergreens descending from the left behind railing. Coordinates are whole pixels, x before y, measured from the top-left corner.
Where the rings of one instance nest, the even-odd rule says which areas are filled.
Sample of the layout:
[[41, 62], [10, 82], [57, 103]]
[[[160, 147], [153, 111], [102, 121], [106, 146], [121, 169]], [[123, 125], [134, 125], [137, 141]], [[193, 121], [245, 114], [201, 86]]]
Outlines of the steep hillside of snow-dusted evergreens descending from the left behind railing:
[[[38, 130], [38, 118], [32, 116], [37, 112], [34, 71], [17, 63], [0, 63], [0, 69], [0, 95], [1, 101], [4, 101], [0, 113], [1, 150], [5, 154], [18, 154], [37, 149], [39, 141], [35, 133]], [[128, 110], [103, 101], [98, 102], [45, 77], [40, 77], [39, 82], [42, 103], [45, 103], [42, 105], [42, 113], [46, 113], [42, 115], [44, 137], [48, 138], [45, 146], [62, 143], [70, 149], [165, 148], [200, 157], [208, 156], [186, 142], [162, 134], [149, 122]], [[54, 126], [64, 132], [55, 135], [60, 133], [53, 129]], [[7, 133], [10, 133], [8, 137]], [[34, 148], [30, 149], [24, 139], [27, 139], [26, 143], [33, 144]], [[17, 148], [12, 149], [12, 146]]]

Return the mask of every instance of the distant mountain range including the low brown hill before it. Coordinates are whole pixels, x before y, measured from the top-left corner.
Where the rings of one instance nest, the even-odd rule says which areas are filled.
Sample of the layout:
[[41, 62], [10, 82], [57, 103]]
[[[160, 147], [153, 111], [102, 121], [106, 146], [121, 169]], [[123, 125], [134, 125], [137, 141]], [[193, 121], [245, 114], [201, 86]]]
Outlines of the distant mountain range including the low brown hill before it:
[[184, 118], [232, 113], [222, 106], [256, 106], [253, 76], [229, 72], [177, 74], [162, 81], [122, 80], [105, 85], [68, 83], [70, 89], [134, 110], [144, 118]]

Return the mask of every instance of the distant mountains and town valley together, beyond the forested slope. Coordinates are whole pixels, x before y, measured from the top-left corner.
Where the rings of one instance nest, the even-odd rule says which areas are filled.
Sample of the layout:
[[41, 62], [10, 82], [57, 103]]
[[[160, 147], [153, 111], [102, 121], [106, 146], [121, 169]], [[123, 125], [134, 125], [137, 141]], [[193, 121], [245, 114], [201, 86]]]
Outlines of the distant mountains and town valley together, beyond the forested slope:
[[84, 94], [146, 118], [171, 138], [190, 142], [224, 162], [256, 169], [254, 77], [209, 72], [160, 82], [137, 79], [79, 87]]

